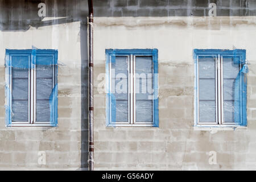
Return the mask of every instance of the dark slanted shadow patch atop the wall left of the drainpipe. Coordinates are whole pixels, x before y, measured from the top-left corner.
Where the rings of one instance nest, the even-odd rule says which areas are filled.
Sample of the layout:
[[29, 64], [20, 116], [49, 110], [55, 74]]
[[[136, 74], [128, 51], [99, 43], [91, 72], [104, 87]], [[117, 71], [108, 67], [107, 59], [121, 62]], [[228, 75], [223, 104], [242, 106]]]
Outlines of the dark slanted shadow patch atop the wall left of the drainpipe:
[[[39, 6], [41, 2], [46, 5], [45, 11], [42, 6]], [[47, 20], [43, 12], [47, 18], [57, 17], [58, 19]], [[1, 31], [27, 31], [30, 26], [42, 27], [78, 22], [86, 20], [87, 16], [86, 0], [0, 0]]]

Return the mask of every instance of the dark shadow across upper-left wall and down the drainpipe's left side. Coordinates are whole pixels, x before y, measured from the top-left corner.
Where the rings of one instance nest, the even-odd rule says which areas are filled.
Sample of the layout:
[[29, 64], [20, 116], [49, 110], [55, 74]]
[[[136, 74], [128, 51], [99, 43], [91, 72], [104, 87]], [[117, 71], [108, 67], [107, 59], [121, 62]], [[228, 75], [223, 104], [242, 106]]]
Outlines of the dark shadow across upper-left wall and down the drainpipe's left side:
[[[39, 17], [39, 3], [46, 3], [46, 17]], [[88, 2], [86, 0], [0, 0], [0, 31], [27, 31], [80, 21], [81, 40], [81, 169], [88, 169]], [[32, 47], [32, 45], [31, 45]]]

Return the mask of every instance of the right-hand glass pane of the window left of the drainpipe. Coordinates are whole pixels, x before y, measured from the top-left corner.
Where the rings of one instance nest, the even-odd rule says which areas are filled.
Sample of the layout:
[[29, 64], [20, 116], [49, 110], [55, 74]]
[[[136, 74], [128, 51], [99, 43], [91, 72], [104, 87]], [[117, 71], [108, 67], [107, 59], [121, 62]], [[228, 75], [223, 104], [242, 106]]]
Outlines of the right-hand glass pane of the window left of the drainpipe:
[[36, 122], [50, 121], [50, 105], [52, 89], [55, 86], [53, 78], [52, 56], [36, 56]]

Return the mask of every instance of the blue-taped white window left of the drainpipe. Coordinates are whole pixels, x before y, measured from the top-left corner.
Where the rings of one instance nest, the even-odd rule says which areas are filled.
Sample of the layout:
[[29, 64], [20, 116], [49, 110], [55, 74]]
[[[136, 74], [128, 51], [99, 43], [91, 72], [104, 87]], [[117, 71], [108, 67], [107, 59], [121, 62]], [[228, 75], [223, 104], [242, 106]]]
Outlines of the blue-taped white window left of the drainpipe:
[[6, 49], [6, 126], [57, 126], [57, 51]]

